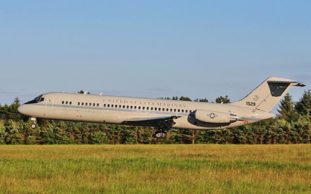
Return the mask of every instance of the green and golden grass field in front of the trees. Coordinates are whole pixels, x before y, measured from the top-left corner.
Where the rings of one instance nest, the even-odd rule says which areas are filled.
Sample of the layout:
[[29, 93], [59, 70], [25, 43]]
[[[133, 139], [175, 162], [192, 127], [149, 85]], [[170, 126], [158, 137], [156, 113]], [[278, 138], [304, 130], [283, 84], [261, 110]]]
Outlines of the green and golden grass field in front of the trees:
[[0, 193], [311, 193], [311, 145], [0, 146]]

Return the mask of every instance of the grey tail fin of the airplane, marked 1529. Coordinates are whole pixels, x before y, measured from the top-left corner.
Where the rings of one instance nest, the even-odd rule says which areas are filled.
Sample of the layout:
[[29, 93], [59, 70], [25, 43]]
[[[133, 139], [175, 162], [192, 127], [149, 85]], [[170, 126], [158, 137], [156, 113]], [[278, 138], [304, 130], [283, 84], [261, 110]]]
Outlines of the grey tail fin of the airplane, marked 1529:
[[263, 81], [242, 100], [231, 104], [270, 112], [292, 86], [305, 86], [303, 82], [271, 77]]

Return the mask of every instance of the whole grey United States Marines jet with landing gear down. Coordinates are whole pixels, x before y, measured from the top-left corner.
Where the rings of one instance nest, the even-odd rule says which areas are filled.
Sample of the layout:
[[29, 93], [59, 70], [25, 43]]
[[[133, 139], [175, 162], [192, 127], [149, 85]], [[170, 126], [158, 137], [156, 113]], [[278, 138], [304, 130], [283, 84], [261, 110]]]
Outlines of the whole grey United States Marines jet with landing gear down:
[[275, 116], [270, 111], [292, 86], [304, 82], [270, 77], [233, 103], [207, 103], [141, 97], [46, 93], [20, 105], [17, 111], [37, 118], [155, 127], [156, 138], [171, 129], [228, 129]]

